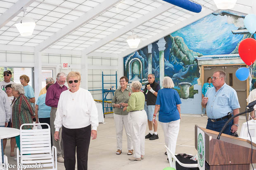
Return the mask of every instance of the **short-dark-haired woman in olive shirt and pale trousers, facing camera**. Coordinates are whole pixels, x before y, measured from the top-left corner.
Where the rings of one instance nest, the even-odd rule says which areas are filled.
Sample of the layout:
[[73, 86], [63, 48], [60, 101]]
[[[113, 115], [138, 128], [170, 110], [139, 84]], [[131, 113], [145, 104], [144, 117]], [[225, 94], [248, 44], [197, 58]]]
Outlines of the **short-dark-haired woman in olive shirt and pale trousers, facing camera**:
[[123, 111], [123, 107], [128, 106], [128, 100], [132, 89], [127, 87], [128, 78], [123, 76], [120, 78], [120, 88], [116, 89], [114, 97], [112, 99], [112, 107], [114, 108], [114, 121], [116, 126], [116, 154], [120, 155], [122, 153], [122, 141], [123, 141], [123, 126], [126, 130], [127, 136], [127, 149], [128, 155], [133, 154], [132, 139], [130, 136], [130, 128], [128, 124], [128, 112]]

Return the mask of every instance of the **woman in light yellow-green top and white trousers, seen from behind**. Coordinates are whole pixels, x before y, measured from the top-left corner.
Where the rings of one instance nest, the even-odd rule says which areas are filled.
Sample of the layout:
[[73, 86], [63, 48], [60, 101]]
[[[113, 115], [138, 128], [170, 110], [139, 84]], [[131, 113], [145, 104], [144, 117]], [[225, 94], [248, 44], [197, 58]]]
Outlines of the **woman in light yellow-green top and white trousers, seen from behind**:
[[139, 81], [132, 82], [132, 91], [127, 110], [128, 123], [134, 148], [134, 156], [129, 158], [130, 161], [141, 161], [145, 155], [145, 132], [147, 127], [147, 113], [144, 110], [145, 95], [140, 91], [142, 85]]

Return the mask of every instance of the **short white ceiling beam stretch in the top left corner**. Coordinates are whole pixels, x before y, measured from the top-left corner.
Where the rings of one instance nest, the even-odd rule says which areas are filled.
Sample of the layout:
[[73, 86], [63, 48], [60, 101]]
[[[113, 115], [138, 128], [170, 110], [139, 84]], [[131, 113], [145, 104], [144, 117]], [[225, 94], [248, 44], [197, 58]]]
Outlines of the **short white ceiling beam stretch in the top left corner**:
[[7, 9], [7, 11], [0, 16], [0, 28], [5, 26], [5, 24], [22, 12], [23, 7], [28, 7], [34, 1], [35, 0], [18, 0], [14, 5], [12, 5], [12, 7]]

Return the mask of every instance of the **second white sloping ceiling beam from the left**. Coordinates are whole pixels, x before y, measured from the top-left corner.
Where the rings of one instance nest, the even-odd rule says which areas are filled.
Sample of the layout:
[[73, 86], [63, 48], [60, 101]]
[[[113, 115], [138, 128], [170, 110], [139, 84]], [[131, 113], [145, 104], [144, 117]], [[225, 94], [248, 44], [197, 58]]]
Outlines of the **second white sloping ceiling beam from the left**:
[[52, 44], [60, 40], [62, 37], [65, 37], [69, 33], [73, 32], [77, 28], [83, 26], [85, 23], [90, 21], [91, 19], [95, 18], [95, 16], [100, 15], [102, 12], [107, 11], [109, 8], [116, 5], [121, 0], [105, 0], [90, 11], [83, 14], [81, 17], [70, 23], [69, 25], [65, 26], [57, 33], [52, 35], [51, 37], [47, 38], [45, 41], [38, 44], [35, 47], [36, 51], [43, 51], [47, 47], [50, 47]]

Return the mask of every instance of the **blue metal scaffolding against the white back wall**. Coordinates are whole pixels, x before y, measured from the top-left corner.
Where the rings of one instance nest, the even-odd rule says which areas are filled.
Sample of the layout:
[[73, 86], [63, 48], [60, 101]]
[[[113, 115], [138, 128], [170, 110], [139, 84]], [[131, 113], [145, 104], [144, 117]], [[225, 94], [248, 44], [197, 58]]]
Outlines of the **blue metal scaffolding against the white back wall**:
[[[116, 76], [116, 83], [104, 83], [104, 76]], [[106, 107], [104, 105], [104, 103], [108, 103], [109, 100], [112, 100], [112, 99], [107, 99], [107, 95], [109, 93], [112, 93], [113, 96], [114, 96], [114, 92], [116, 90], [109, 90], [109, 89], [104, 89], [104, 84], [116, 84], [116, 89], [117, 89], [117, 72], [115, 75], [104, 75], [103, 72], [102, 72], [102, 110], [103, 110], [103, 114], [109, 114], [109, 113], [113, 113], [113, 108], [112, 106], [108, 106], [108, 104], [106, 104]], [[111, 86], [111, 87], [114, 87], [114, 86]], [[106, 109], [106, 112], [105, 112], [105, 109]]]

